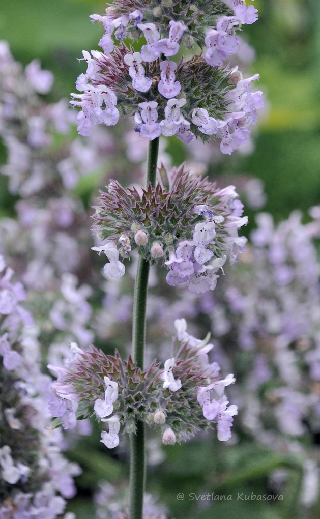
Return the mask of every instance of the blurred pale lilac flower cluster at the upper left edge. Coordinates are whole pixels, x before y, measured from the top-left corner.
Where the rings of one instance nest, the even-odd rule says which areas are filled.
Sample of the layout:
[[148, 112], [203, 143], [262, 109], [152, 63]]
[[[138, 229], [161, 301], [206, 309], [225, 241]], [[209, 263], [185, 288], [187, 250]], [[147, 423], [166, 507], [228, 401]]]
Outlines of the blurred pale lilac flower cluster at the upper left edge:
[[52, 181], [52, 132], [66, 134], [74, 114], [63, 99], [43, 103], [39, 94], [50, 91], [53, 75], [41, 70], [37, 60], [23, 70], [4, 41], [0, 56], [0, 135], [8, 149], [8, 164], [1, 171], [9, 176], [11, 193], [30, 195]]

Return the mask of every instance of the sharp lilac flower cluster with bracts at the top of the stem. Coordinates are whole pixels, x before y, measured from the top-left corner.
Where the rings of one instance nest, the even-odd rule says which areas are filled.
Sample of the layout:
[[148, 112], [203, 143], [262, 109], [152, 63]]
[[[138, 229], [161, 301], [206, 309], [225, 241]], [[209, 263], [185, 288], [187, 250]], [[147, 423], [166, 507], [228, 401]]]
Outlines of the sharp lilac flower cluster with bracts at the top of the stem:
[[[194, 135], [214, 136], [224, 154], [245, 144], [263, 106], [261, 92], [250, 89], [259, 75], [244, 79], [238, 67], [231, 70], [224, 61], [240, 50], [235, 30], [255, 22], [257, 10], [240, 0], [229, 4], [215, 0], [182, 7], [170, 0], [145, 6], [119, 0], [104, 16], [91, 15], [104, 26], [99, 42], [104, 52], [83, 51], [87, 71], [76, 83], [83, 93], [71, 94], [71, 104], [82, 109], [79, 133], [88, 136], [97, 124], [114, 126], [121, 113], [133, 115], [135, 131], [149, 141], [161, 134], [185, 143]], [[123, 43], [125, 37], [143, 37], [146, 44], [134, 51]], [[180, 44], [206, 48], [204, 58], [173, 61]]]

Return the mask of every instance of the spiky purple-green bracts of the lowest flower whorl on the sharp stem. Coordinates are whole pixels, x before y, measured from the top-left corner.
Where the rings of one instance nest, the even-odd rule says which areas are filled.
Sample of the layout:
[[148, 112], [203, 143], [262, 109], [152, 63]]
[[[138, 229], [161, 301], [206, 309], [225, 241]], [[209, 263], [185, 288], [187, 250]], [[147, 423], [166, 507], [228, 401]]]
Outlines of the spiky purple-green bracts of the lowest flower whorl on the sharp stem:
[[[135, 432], [136, 420], [160, 428], [162, 433], [171, 427], [178, 442], [212, 427], [213, 422], [206, 420], [202, 414], [197, 388], [207, 384], [208, 380], [211, 383], [216, 381], [218, 377], [208, 379], [206, 367], [199, 361], [196, 349], [181, 344], [177, 339], [174, 349], [177, 352], [174, 376], [182, 383], [182, 387], [175, 392], [163, 389], [163, 368], [156, 361], [147, 371], [142, 371], [131, 356], [123, 361], [118, 351], [114, 356], [106, 356], [94, 346], [90, 346], [88, 351], [81, 351], [64, 378], [64, 383], [71, 388], [70, 394], [79, 402], [77, 418], [87, 418], [93, 414], [94, 402], [104, 396], [104, 377], [109, 377], [118, 384], [118, 398], [113, 404], [113, 412], [129, 434]], [[154, 416], [159, 409], [164, 413], [165, 421], [155, 423]], [[59, 424], [59, 420], [56, 423]]]

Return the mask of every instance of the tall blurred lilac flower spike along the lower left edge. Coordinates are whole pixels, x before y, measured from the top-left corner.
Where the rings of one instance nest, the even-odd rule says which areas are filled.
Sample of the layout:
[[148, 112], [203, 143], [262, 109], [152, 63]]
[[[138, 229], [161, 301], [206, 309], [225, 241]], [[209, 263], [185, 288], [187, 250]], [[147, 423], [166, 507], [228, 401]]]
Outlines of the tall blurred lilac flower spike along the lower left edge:
[[[0, 516], [61, 517], [75, 495], [75, 463], [61, 454], [46, 397], [51, 379], [40, 372], [35, 326], [25, 294], [0, 256]], [[73, 519], [66, 514], [65, 519]]]

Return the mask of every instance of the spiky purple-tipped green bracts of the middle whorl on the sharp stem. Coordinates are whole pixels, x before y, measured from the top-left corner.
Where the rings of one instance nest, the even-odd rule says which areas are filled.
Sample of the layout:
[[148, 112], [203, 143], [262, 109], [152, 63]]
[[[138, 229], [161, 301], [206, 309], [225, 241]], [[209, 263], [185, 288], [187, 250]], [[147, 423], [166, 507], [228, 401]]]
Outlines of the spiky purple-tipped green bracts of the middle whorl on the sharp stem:
[[[160, 172], [168, 179], [168, 172], [162, 166]], [[163, 175], [164, 173], [164, 175]], [[191, 175], [184, 166], [171, 173], [173, 181], [158, 182], [155, 188], [149, 184], [147, 189], [137, 190], [135, 187], [124, 188], [116, 181], [110, 181], [107, 192], [101, 192], [99, 206], [96, 207], [93, 220], [94, 228], [100, 239], [112, 240], [117, 245], [122, 256], [128, 256], [128, 249], [123, 249], [120, 236], [130, 240], [130, 248], [138, 252], [147, 261], [157, 262], [152, 257], [150, 249], [157, 242], [161, 245], [166, 260], [171, 251], [184, 240], [192, 240], [194, 226], [206, 221], [204, 216], [194, 212], [198, 204], [207, 204], [215, 215], [227, 215], [227, 210], [221, 204], [214, 183]], [[137, 246], [134, 236], [138, 230], [143, 230], [148, 241], [145, 245]], [[219, 231], [221, 236], [219, 237]], [[217, 239], [213, 252], [221, 255], [220, 244], [223, 241], [224, 228], [217, 224]]]

